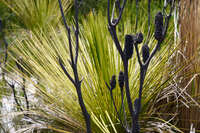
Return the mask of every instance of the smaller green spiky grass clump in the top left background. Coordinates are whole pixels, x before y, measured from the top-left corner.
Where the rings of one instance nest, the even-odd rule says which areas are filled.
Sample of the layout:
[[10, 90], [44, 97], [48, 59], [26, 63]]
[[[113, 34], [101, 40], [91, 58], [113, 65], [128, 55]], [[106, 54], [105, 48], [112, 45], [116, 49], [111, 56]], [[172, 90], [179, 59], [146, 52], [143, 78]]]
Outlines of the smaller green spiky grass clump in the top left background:
[[[18, 17], [20, 26], [33, 30], [56, 26], [61, 19], [57, 0], [2, 0]], [[73, 0], [63, 0], [64, 11], [71, 8]]]

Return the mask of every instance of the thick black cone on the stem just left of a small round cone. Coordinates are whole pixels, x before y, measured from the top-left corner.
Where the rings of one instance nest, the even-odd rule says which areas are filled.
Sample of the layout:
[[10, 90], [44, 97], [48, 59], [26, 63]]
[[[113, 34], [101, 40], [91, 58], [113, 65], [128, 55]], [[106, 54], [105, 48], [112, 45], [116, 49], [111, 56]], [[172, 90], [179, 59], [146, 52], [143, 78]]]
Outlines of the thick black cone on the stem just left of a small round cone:
[[126, 59], [130, 59], [133, 55], [133, 36], [132, 35], [126, 35], [125, 36], [125, 47], [124, 47], [124, 53], [126, 56]]

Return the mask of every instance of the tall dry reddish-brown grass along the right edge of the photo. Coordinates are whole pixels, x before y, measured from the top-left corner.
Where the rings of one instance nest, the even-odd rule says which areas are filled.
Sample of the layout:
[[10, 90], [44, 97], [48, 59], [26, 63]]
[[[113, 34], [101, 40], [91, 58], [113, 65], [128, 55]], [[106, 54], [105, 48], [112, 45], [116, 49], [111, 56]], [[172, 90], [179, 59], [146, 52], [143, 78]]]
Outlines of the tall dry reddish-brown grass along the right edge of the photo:
[[[184, 70], [184, 80], [181, 86], [186, 86], [188, 81], [197, 74], [192, 84], [187, 88], [187, 93], [190, 94], [197, 102], [200, 101], [200, 1], [199, 0], [181, 0], [180, 5], [180, 37], [181, 44], [180, 50], [186, 59], [192, 60], [187, 69]], [[182, 57], [180, 63], [186, 63]], [[188, 73], [190, 75], [188, 76]], [[187, 76], [186, 76], [187, 75]], [[200, 109], [188, 103], [190, 108], [185, 106], [180, 109], [180, 127], [188, 132], [190, 124], [193, 123], [194, 127], [200, 130]]]

